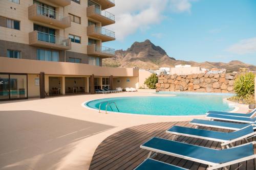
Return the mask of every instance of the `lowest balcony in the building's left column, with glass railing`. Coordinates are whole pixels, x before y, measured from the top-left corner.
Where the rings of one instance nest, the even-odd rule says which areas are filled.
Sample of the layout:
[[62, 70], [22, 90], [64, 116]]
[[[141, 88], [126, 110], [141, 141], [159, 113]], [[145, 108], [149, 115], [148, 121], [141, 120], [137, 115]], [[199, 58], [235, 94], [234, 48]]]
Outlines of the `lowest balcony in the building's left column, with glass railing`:
[[29, 45], [52, 48], [55, 50], [71, 49], [71, 41], [69, 38], [59, 37], [38, 31], [29, 33]]

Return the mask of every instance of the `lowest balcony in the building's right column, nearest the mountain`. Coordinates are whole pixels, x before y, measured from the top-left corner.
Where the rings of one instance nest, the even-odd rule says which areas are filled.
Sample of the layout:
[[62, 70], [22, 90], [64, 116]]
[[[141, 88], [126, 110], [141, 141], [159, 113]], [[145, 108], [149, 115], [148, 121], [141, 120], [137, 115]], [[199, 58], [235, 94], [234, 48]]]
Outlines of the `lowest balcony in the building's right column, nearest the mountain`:
[[115, 57], [115, 49], [92, 44], [87, 45], [87, 54], [102, 58], [111, 58]]

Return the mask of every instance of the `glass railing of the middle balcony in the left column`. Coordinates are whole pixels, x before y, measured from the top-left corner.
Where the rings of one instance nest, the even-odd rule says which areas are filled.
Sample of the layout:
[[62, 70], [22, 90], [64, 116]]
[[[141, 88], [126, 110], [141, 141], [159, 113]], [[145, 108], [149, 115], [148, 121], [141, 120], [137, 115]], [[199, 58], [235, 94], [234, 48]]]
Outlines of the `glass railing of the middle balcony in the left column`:
[[40, 6], [36, 4], [36, 12], [39, 15], [44, 15], [49, 18], [57, 19], [57, 20], [62, 20], [64, 18], [62, 15], [59, 14], [59, 12], [54, 11], [52, 9]]

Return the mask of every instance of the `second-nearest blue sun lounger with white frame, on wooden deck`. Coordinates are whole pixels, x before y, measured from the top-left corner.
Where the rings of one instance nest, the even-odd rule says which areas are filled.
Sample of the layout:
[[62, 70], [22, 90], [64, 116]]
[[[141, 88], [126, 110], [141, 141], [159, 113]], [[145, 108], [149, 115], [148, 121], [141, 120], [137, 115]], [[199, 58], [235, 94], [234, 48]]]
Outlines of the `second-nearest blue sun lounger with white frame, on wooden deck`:
[[224, 150], [216, 150], [211, 148], [200, 147], [198, 145], [182, 143], [173, 140], [153, 137], [140, 148], [150, 151], [148, 158], [152, 152], [166, 154], [179, 157], [182, 159], [195, 161], [208, 165], [208, 170], [218, 169], [231, 164], [244, 162], [256, 158], [254, 155], [253, 144], [250, 142]]

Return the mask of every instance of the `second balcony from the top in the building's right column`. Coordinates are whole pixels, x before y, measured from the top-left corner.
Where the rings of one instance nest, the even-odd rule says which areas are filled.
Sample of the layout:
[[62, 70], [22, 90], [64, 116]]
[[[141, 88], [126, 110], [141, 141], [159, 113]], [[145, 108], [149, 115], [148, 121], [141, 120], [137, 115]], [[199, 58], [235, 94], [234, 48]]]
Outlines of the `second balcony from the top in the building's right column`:
[[101, 11], [101, 9], [95, 7], [95, 5], [87, 7], [87, 17], [101, 22], [101, 26], [115, 23], [115, 15], [106, 11]]

